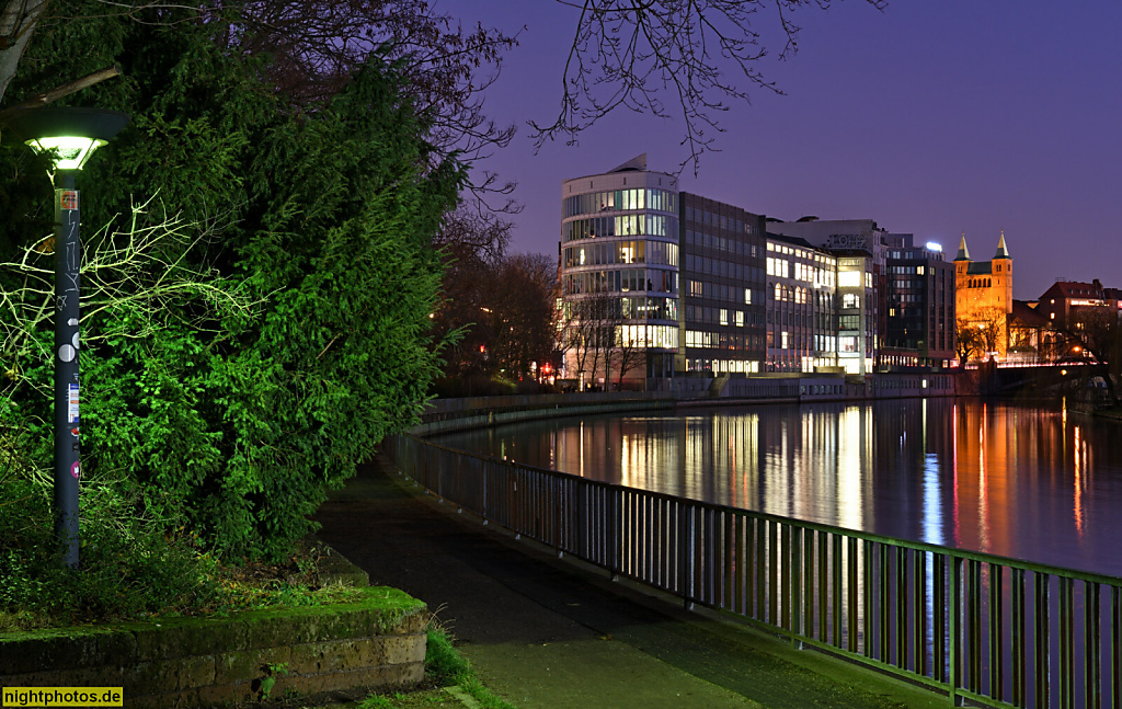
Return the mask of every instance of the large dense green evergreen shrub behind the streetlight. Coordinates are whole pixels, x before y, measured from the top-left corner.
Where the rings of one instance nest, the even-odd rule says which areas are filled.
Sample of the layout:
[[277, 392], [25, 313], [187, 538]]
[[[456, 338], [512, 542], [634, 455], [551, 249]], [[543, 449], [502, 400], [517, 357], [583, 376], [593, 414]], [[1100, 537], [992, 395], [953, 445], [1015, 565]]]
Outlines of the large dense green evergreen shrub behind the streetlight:
[[[85, 236], [105, 258], [83, 270], [101, 286], [82, 303], [83, 514], [91, 481], [111, 478], [107, 505], [154, 538], [183, 527], [226, 558], [280, 559], [325, 491], [416, 420], [436, 372], [431, 237], [462, 168], [431, 154], [399, 67], [377, 56], [330, 104], [298, 111], [260, 81], [264, 59], [217, 40], [221, 22], [102, 18], [103, 42], [90, 27], [53, 27], [8, 96], [74, 56], [127, 76], [75, 96], [132, 116], [80, 178], [83, 223], [116, 224]], [[0, 188], [19, 210], [0, 257], [15, 260], [49, 202], [35, 159], [8, 147], [0, 162], [22, 172]], [[137, 211], [134, 194], [157, 199]], [[0, 432], [19, 432], [24, 479], [52, 460], [52, 323], [26, 278], [0, 274], [17, 305], [0, 325], [19, 333], [0, 349], [0, 374], [15, 372], [0, 379]]]

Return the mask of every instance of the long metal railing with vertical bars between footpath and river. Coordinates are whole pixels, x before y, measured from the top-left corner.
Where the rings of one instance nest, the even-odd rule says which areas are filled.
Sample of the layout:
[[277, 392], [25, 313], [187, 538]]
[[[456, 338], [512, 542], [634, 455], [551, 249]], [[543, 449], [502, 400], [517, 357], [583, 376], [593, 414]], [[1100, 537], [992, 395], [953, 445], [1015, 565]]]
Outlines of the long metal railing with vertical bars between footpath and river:
[[443, 499], [626, 577], [993, 707], [1122, 708], [1122, 579], [388, 441]]

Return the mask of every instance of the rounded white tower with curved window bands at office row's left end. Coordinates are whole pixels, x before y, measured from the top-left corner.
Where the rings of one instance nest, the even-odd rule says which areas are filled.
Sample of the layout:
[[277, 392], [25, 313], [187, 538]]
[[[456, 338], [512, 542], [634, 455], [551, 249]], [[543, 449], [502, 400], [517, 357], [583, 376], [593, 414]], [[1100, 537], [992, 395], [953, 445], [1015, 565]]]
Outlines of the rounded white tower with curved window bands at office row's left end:
[[678, 178], [641, 155], [562, 190], [565, 368], [582, 384], [668, 377], [681, 343]]

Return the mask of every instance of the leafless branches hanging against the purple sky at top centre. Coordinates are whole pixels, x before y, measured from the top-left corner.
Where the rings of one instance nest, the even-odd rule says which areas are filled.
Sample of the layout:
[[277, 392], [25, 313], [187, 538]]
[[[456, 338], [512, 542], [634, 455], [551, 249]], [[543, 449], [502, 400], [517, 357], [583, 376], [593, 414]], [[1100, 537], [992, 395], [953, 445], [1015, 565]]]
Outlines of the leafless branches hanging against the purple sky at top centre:
[[[726, 100], [748, 101], [747, 86], [782, 93], [756, 68], [767, 54], [755, 29], [757, 13], [773, 9], [780, 58], [798, 49], [791, 13], [831, 0], [558, 0], [580, 15], [561, 79], [561, 108], [552, 123], [531, 122], [541, 147], [578, 133], [616, 109], [669, 117], [684, 123], [682, 140], [693, 163], [720, 132], [716, 116]], [[865, 0], [882, 9], [886, 0]], [[669, 93], [670, 98], [664, 99]], [[673, 107], [673, 108], [671, 108]]]

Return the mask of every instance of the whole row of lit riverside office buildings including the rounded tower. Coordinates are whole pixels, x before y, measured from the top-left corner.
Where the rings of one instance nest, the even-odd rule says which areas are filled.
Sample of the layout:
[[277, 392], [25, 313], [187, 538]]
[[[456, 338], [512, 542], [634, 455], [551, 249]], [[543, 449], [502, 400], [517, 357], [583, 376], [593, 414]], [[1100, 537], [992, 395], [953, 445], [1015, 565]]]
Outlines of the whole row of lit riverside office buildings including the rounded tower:
[[941, 248], [872, 220], [767, 220], [678, 187], [645, 155], [562, 183], [569, 378], [865, 375], [954, 357]]

